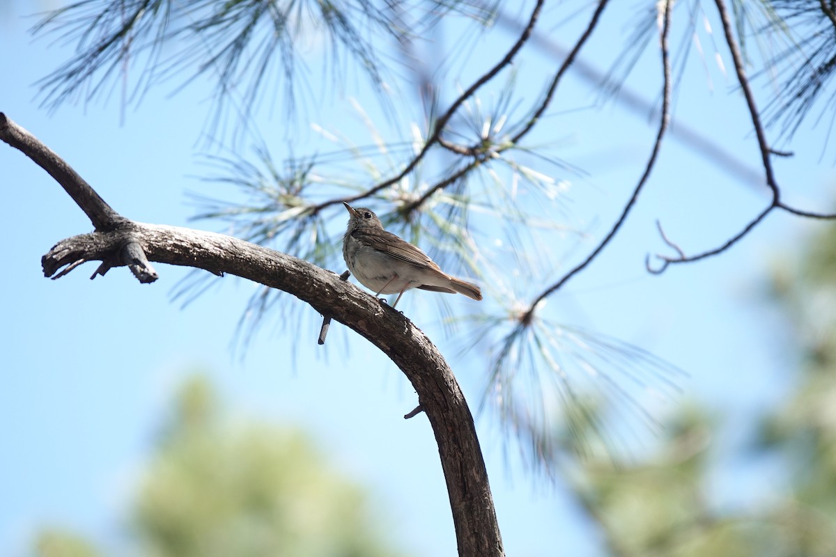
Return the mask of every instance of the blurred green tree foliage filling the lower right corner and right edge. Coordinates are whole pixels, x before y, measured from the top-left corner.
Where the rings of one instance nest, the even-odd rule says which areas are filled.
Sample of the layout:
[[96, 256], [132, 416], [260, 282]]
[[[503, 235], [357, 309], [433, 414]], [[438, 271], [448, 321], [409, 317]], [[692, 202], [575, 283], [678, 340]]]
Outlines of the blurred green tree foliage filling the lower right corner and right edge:
[[796, 353], [795, 389], [763, 418], [748, 449], [782, 456], [787, 489], [754, 510], [711, 504], [709, 433], [699, 409], [669, 430], [660, 453], [614, 470], [573, 473], [579, 501], [619, 557], [831, 557], [836, 555], [836, 226], [809, 239], [772, 274], [782, 337]]

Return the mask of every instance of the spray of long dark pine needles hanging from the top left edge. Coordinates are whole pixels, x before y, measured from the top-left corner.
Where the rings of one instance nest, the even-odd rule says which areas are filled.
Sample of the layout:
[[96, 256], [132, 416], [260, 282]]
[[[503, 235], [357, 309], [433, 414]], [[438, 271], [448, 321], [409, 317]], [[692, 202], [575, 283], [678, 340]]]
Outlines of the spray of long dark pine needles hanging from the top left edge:
[[[422, 28], [452, 10], [482, 13], [460, 3], [426, 2]], [[125, 103], [166, 79], [185, 85], [185, 75], [186, 83], [196, 77], [215, 83], [215, 124], [227, 109], [234, 119], [249, 119], [264, 99], [282, 98], [275, 89], [283, 89], [291, 114], [298, 89], [307, 85], [302, 53], [310, 50], [321, 49], [328, 58], [335, 83], [351, 61], [383, 89], [390, 68], [373, 38], [399, 42], [417, 32], [396, 14], [367, 0], [79, 0], [48, 13], [34, 28], [75, 48], [41, 80], [43, 102], [51, 108], [89, 102], [110, 94], [121, 78]]]

